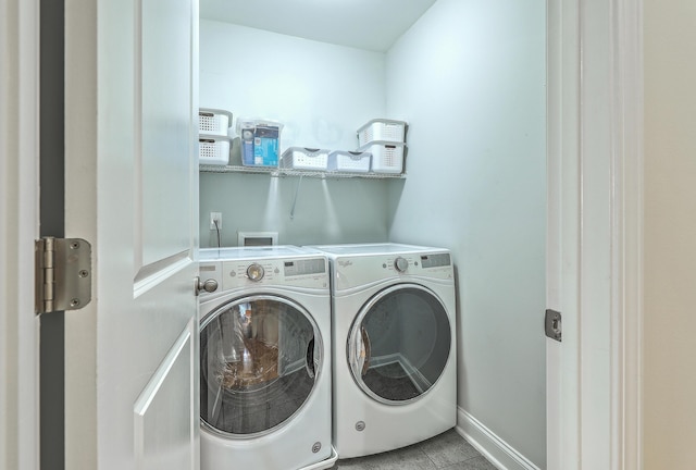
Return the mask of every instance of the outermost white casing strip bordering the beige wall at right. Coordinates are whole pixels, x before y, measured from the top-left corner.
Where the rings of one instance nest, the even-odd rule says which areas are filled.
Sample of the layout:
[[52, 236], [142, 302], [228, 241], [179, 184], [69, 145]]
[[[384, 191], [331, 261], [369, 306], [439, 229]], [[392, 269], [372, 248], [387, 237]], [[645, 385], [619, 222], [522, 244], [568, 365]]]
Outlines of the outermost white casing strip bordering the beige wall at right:
[[643, 1], [612, 2], [612, 462], [643, 468]]

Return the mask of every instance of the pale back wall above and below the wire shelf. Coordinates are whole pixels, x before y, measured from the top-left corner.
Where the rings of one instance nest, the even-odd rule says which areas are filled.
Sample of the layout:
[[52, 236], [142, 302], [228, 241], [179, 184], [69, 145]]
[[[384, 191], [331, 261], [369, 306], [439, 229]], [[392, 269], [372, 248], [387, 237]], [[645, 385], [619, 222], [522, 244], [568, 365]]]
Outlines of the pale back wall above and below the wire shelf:
[[[353, 150], [356, 131], [385, 115], [384, 77], [384, 53], [200, 23], [201, 107], [228, 110], [235, 121], [282, 122], [282, 150]], [[210, 212], [222, 212], [222, 246], [236, 246], [238, 231], [278, 232], [278, 243], [293, 245], [387, 239], [388, 187], [402, 183], [304, 177], [291, 218], [298, 184], [296, 177], [201, 173], [201, 247], [217, 244]]]

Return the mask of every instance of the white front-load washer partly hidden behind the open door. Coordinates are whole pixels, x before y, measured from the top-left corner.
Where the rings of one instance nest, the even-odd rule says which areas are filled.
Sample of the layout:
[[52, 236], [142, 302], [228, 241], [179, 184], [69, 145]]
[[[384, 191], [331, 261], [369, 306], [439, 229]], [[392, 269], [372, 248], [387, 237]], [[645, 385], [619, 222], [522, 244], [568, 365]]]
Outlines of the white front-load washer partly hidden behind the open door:
[[201, 470], [332, 467], [326, 257], [201, 249], [200, 277]]

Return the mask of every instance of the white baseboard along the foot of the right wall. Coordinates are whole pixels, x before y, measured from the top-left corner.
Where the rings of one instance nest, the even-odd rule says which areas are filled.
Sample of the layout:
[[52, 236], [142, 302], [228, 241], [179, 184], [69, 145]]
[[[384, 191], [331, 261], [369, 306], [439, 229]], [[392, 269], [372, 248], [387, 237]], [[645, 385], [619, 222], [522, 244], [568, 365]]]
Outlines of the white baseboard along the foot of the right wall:
[[457, 409], [457, 432], [499, 470], [539, 470], [465, 410]]

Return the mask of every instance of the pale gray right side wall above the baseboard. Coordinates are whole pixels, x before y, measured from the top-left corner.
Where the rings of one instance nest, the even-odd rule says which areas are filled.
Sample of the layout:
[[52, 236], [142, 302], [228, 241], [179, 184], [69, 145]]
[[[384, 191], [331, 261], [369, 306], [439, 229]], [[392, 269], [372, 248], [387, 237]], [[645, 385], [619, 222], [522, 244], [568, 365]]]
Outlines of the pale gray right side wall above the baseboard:
[[453, 251], [460, 417], [545, 468], [545, 2], [438, 0], [387, 55], [387, 109], [389, 238]]

